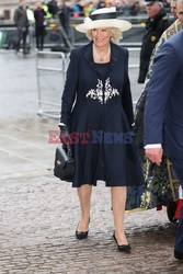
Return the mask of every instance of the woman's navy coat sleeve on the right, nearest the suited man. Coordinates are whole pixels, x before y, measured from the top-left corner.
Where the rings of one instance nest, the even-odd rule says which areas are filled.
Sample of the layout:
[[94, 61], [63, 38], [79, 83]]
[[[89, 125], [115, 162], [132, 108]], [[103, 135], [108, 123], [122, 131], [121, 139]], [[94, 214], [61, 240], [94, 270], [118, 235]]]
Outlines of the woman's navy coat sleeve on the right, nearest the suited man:
[[129, 126], [131, 127], [134, 123], [134, 112], [133, 112], [133, 99], [130, 92], [130, 83], [128, 77], [128, 52], [126, 52], [126, 62], [125, 62], [125, 76], [124, 76], [124, 87], [122, 92], [122, 104], [127, 116]]

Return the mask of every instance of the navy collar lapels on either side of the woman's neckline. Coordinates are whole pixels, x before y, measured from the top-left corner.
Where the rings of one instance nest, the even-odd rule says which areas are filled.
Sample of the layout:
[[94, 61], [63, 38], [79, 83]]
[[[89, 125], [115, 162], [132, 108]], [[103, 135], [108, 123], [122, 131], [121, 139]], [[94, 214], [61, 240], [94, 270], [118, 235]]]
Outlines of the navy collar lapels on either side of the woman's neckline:
[[[95, 69], [95, 62], [94, 62], [93, 56], [92, 56], [92, 44], [93, 44], [93, 42], [90, 42], [88, 45], [85, 45], [83, 47], [82, 50], [83, 50], [83, 56], [84, 56], [85, 60], [89, 62], [90, 67]], [[112, 58], [111, 58], [111, 62], [110, 62], [110, 70], [116, 64], [117, 56], [118, 56], [118, 48], [114, 43], [111, 43], [111, 53], [112, 53]]]

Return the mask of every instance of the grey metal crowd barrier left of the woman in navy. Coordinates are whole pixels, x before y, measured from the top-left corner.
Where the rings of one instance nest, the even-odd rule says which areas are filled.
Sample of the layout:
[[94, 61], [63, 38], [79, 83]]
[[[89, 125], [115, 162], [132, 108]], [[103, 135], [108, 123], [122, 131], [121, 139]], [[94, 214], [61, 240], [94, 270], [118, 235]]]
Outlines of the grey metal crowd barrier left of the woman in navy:
[[66, 56], [64, 53], [37, 52], [36, 76], [39, 116], [57, 118], [64, 90]]

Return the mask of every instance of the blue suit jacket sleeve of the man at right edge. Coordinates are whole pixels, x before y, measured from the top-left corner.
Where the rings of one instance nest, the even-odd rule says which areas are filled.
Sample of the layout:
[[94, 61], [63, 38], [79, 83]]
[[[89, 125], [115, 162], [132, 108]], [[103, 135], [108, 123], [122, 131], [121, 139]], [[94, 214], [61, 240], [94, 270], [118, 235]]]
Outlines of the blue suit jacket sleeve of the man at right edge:
[[163, 144], [163, 122], [169, 93], [179, 70], [179, 57], [165, 43], [157, 53], [151, 78], [147, 84], [145, 106], [145, 145]]

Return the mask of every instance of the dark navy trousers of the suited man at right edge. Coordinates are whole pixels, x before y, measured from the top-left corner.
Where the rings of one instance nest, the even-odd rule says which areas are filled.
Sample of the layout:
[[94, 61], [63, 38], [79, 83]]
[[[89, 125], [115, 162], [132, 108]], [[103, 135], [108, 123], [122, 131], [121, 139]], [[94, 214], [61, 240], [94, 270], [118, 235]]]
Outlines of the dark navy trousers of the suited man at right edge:
[[[183, 190], [183, 160], [181, 159], [171, 159], [173, 168], [176, 172], [176, 175], [181, 182], [181, 187]], [[183, 253], [183, 205], [181, 208], [178, 231], [175, 237], [174, 249]]]

